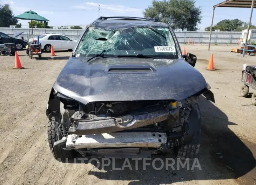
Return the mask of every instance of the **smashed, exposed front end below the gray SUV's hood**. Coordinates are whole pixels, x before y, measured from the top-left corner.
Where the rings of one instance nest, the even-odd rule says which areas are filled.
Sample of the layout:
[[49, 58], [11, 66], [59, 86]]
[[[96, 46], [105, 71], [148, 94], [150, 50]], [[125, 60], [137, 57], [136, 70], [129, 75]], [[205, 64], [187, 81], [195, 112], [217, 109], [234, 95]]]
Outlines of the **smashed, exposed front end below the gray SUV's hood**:
[[[203, 94], [214, 101], [208, 89]], [[54, 147], [83, 156], [150, 157], [173, 153], [190, 143], [201, 127], [198, 94], [181, 102], [93, 102], [83, 105], [65, 96], [49, 101], [48, 116], [56, 120], [61, 139]], [[54, 107], [58, 105], [59, 107]], [[53, 106], [54, 105], [54, 106]], [[52, 110], [58, 110], [52, 111]]]

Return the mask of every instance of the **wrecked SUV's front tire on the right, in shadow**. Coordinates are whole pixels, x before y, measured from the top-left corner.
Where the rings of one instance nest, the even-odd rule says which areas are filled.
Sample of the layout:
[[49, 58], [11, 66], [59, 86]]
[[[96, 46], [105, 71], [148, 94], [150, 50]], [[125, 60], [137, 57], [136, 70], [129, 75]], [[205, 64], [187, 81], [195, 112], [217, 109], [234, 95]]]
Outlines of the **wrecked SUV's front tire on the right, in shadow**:
[[193, 105], [188, 121], [189, 121], [188, 132], [192, 134], [188, 136], [186, 136], [185, 134], [184, 141], [186, 142], [178, 148], [177, 158], [181, 160], [186, 160], [187, 158], [189, 158], [189, 160], [193, 160], [200, 148], [202, 128], [201, 128], [201, 115], [200, 115], [200, 109], [198, 104]]

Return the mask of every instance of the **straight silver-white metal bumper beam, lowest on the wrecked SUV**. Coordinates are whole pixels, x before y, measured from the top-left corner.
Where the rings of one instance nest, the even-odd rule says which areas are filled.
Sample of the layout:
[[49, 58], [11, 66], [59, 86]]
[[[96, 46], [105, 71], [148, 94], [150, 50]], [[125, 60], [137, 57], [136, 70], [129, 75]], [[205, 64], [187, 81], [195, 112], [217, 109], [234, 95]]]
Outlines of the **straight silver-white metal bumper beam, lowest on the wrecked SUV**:
[[66, 149], [148, 147], [159, 148], [167, 142], [166, 133], [118, 132], [94, 135], [68, 135]]

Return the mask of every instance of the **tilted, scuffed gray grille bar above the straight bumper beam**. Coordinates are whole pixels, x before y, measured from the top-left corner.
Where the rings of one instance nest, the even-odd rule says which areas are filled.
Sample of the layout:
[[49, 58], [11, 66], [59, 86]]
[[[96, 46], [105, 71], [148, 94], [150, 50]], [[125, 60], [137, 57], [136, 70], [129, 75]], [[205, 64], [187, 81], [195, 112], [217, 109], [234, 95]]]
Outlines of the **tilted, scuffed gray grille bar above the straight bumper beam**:
[[[79, 112], [75, 113], [78, 116]], [[162, 109], [155, 112], [148, 112], [139, 115], [128, 115], [109, 119], [99, 120], [78, 120], [76, 128], [69, 128], [71, 134], [86, 135], [86, 134], [101, 134], [120, 132], [139, 128], [152, 124], [159, 123], [171, 117], [167, 109]]]

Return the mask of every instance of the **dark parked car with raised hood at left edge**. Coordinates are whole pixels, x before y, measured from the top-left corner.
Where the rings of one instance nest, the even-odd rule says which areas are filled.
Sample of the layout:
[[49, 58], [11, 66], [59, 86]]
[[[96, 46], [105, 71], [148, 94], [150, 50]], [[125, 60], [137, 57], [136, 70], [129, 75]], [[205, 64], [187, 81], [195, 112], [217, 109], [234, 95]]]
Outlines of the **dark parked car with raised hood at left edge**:
[[14, 34], [12, 37], [4, 34], [3, 32], [0, 32], [0, 37], [2, 40], [2, 43], [14, 43], [16, 50], [22, 50], [26, 47], [27, 42], [25, 40], [18, 39], [17, 37], [21, 35], [23, 32], [19, 32], [17, 34]]

